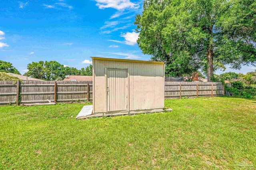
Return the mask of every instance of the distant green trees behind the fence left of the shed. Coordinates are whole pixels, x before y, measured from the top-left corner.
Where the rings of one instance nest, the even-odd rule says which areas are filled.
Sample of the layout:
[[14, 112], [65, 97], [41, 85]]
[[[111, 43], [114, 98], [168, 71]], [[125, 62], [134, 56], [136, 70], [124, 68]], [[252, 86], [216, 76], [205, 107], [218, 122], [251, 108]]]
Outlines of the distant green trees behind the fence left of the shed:
[[[64, 66], [57, 61], [39, 61], [28, 64], [27, 68], [28, 71], [24, 76], [48, 81], [63, 80], [66, 75], [92, 76], [91, 64], [79, 70], [75, 67]], [[12, 63], [6, 61], [0, 61], [0, 72], [20, 74]]]

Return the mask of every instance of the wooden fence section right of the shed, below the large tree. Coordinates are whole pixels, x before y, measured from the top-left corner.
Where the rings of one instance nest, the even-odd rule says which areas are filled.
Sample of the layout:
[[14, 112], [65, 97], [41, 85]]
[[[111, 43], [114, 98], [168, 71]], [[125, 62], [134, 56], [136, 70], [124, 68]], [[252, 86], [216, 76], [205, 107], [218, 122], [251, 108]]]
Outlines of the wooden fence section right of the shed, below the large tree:
[[222, 82], [165, 82], [166, 99], [224, 96]]

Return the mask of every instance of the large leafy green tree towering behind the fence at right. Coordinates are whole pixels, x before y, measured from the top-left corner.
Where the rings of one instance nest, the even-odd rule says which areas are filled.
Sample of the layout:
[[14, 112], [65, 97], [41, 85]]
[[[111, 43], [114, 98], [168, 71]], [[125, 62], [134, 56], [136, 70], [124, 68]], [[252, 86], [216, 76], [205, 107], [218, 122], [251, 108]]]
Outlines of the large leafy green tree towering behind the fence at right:
[[135, 21], [138, 46], [170, 62], [169, 72], [175, 64], [200, 68], [211, 81], [225, 64], [256, 63], [255, 0], [145, 0], [143, 9]]

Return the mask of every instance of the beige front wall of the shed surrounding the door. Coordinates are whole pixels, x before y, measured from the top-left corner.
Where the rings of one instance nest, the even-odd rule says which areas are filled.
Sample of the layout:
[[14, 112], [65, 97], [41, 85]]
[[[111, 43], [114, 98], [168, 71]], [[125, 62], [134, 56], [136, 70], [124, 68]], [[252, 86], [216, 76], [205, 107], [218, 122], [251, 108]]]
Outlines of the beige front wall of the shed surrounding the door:
[[107, 111], [105, 68], [128, 69], [129, 111], [164, 107], [164, 64], [93, 59], [93, 113]]

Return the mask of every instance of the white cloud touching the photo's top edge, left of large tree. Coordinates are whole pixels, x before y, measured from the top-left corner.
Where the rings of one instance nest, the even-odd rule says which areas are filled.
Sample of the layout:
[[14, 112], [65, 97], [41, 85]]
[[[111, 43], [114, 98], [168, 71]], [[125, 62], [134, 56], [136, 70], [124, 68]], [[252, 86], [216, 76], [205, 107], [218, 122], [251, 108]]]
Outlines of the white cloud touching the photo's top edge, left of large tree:
[[140, 7], [139, 4], [134, 4], [130, 0], [95, 0], [97, 2], [96, 6], [99, 9], [114, 8], [116, 10], [125, 9], [137, 9]]

